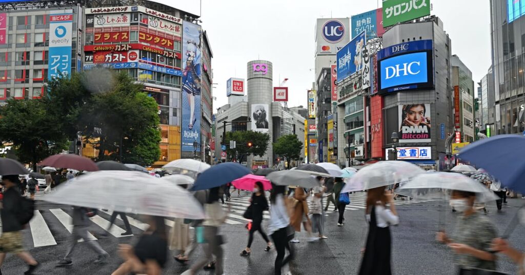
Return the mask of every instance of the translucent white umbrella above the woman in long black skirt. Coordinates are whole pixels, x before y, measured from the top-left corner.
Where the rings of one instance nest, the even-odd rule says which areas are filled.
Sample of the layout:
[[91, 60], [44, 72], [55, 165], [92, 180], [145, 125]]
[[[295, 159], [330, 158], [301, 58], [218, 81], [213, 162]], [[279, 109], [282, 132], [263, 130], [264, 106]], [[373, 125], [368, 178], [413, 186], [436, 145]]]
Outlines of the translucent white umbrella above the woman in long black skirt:
[[379, 161], [364, 167], [353, 175], [341, 192], [368, 190], [407, 181], [425, 171], [406, 161]]

